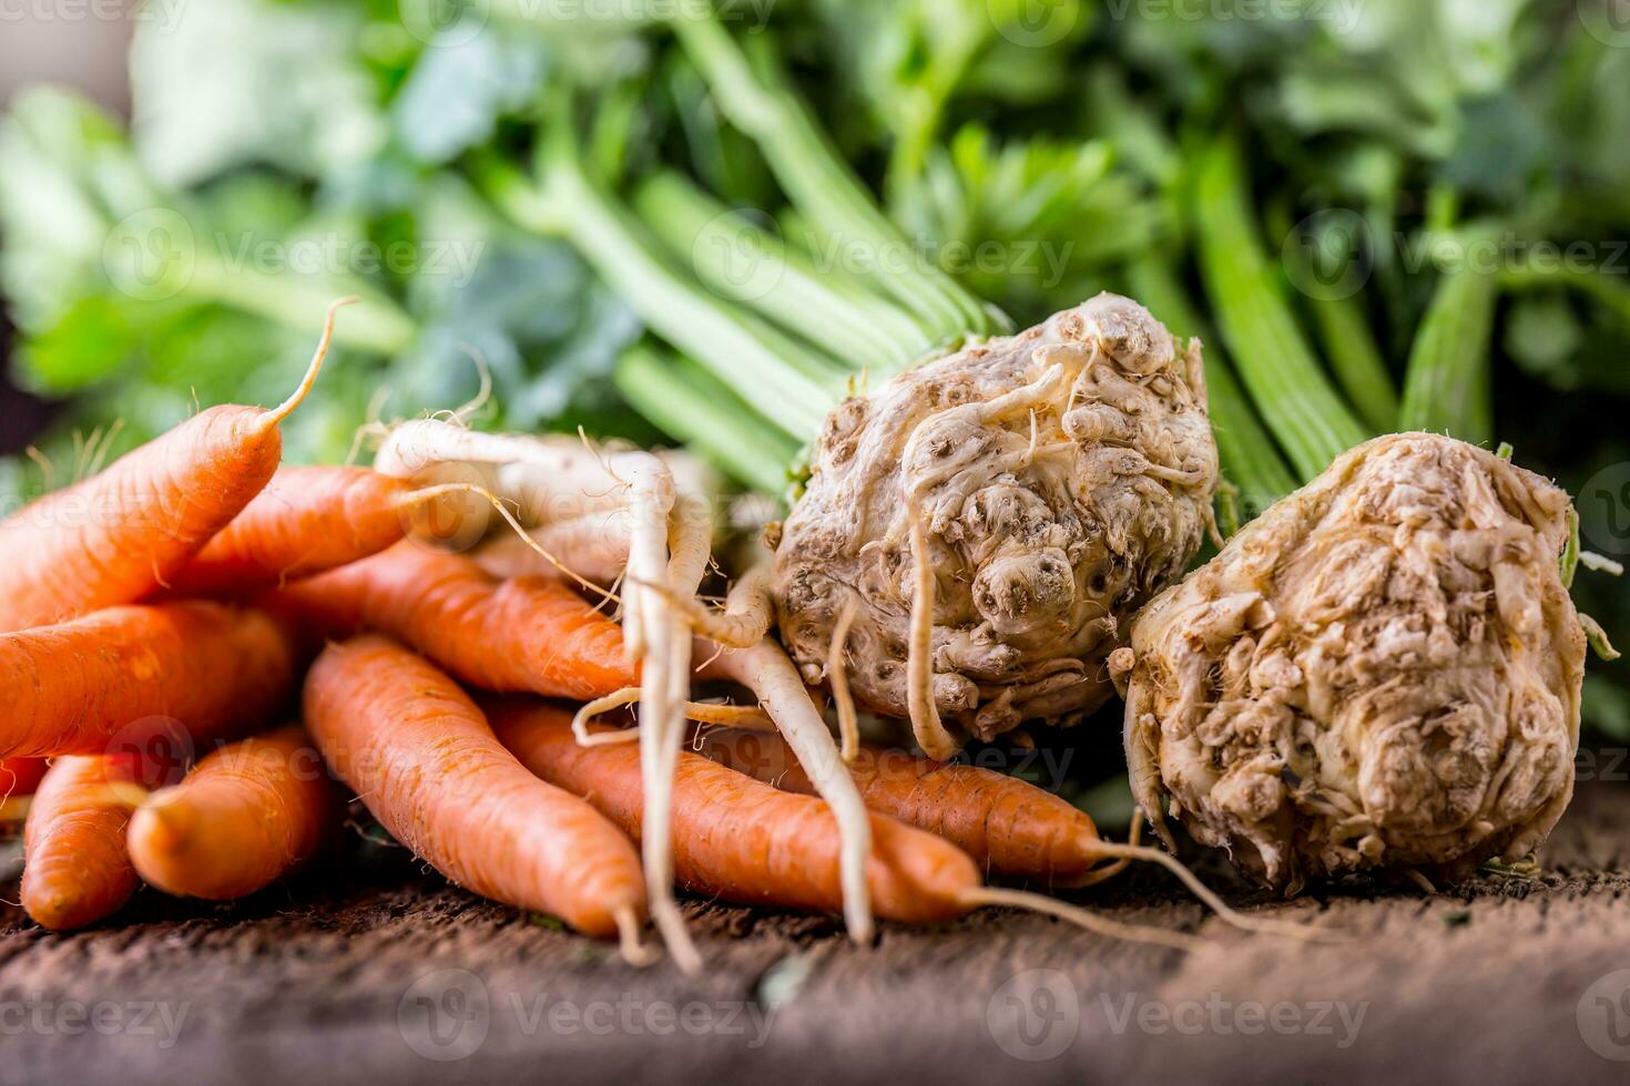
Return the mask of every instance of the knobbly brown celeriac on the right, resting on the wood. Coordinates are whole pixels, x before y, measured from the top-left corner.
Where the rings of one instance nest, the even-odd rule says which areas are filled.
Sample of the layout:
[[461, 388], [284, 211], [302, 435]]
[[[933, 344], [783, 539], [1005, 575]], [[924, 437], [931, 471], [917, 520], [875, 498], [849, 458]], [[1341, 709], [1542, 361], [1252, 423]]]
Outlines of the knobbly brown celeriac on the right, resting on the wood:
[[1133, 624], [1133, 791], [1288, 892], [1537, 848], [1573, 795], [1586, 638], [1568, 495], [1444, 436], [1377, 438]]

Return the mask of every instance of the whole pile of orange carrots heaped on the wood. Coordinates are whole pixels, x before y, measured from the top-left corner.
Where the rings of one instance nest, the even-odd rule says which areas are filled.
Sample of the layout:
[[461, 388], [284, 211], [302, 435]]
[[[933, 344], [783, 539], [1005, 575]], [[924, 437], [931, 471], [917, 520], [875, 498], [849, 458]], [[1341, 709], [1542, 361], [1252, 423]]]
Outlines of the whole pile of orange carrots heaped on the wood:
[[[812, 795], [797, 744], [699, 733], [703, 754], [675, 751], [657, 822], [644, 742], [623, 742], [639, 733], [544, 700], [632, 700], [649, 661], [601, 612], [610, 591], [499, 576], [411, 537], [404, 513], [448, 487], [279, 466], [279, 423], [316, 379], [333, 326], [334, 311], [275, 410], [207, 410], [0, 523], [0, 817], [26, 817], [28, 913], [54, 930], [96, 923], [143, 881], [212, 900], [251, 894], [341, 835], [346, 790], [453, 882], [616, 936], [629, 957], [644, 952], [654, 900], [637, 852], [647, 825], [670, 839], [680, 887], [843, 910], [839, 812]], [[751, 653], [716, 668], [760, 674]], [[778, 772], [734, 769], [743, 741]], [[942, 922], [1022, 902], [1120, 933], [985, 887], [981, 873], [1079, 886], [1148, 850], [1102, 842], [1086, 814], [1015, 778], [851, 755], [879, 915]], [[681, 967], [699, 964], [688, 941], [668, 943]]]

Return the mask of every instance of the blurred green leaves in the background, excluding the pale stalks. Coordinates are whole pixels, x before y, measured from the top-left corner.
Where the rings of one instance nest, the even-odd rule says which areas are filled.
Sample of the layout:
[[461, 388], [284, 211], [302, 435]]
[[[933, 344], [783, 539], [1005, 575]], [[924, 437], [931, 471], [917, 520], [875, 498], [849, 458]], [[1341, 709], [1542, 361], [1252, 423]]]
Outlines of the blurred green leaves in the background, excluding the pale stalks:
[[[1358, 269], [1340, 301], [1395, 379], [1434, 257], [1496, 230], [1496, 433], [1579, 492], [1630, 462], [1614, 422], [1630, 394], [1630, 34], [1594, 3], [717, 7], [789, 60], [896, 223], [1020, 326], [1126, 288], [1151, 254], [1200, 301], [1187, 163], [1218, 132], [1245, 140], [1270, 256], [1356, 223], [1335, 234], [1351, 265], [1332, 278], [1320, 249], [1319, 280]], [[347, 456], [370, 417], [456, 405], [471, 353], [494, 374], [496, 425], [655, 440], [605, 379], [637, 321], [566, 244], [489, 207], [473, 166], [525, 164], [540, 103], [572, 86], [600, 106], [601, 174], [680, 168], [795, 236], [662, 26], [694, 7], [210, 0], [140, 26], [129, 125], [62, 91], [20, 96], [0, 120], [0, 290], [16, 379], [68, 399], [42, 443], [54, 482], [75, 433], [117, 420], [117, 451], [200, 402], [280, 399], [342, 293], [365, 303], [292, 422], [297, 459]], [[1278, 287], [1319, 327], [1306, 265], [1284, 265]], [[46, 482], [0, 464], [0, 497]], [[1610, 549], [1614, 510], [1581, 513], [1586, 542]], [[1586, 573], [1578, 594], [1630, 642], [1623, 588]], [[1627, 728], [1625, 685], [1623, 664], [1596, 672], [1602, 726]]]

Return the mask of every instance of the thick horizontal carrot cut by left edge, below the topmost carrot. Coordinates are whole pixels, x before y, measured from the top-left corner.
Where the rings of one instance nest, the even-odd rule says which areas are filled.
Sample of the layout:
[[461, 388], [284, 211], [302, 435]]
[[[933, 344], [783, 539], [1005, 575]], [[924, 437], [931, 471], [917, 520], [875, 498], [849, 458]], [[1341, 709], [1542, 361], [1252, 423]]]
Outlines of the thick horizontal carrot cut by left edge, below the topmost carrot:
[[0, 633], [0, 757], [145, 749], [253, 729], [293, 685], [282, 627], [212, 602], [109, 607]]

